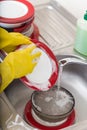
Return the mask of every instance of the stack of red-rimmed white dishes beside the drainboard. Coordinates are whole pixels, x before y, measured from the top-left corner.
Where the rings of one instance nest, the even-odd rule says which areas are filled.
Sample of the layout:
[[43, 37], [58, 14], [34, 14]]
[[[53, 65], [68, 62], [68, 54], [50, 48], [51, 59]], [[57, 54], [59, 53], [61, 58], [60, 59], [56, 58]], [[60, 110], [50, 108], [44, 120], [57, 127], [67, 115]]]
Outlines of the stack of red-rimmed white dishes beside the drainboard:
[[33, 33], [34, 7], [24, 0], [0, 1], [0, 26], [30, 36]]

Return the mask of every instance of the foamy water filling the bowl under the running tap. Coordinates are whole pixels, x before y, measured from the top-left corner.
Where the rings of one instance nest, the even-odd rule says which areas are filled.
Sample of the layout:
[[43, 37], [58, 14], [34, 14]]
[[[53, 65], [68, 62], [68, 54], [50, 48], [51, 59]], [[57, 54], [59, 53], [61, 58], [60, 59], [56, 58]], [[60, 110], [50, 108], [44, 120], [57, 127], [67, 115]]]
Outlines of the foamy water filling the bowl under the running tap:
[[48, 115], [61, 115], [69, 112], [73, 106], [73, 98], [64, 91], [49, 90], [35, 96], [35, 105]]

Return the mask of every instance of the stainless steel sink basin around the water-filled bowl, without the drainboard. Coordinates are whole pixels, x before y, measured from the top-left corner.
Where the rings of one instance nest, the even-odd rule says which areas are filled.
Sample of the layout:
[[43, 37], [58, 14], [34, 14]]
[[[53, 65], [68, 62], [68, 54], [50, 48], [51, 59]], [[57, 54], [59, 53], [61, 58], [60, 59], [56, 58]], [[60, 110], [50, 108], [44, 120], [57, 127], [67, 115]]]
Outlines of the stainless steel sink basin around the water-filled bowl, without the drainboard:
[[[57, 55], [57, 59], [70, 55]], [[71, 56], [70, 56], [71, 57]], [[61, 86], [69, 90], [75, 98], [75, 123], [87, 120], [87, 65], [72, 63], [64, 66]], [[5, 90], [5, 94], [16, 112], [24, 120], [24, 108], [30, 100], [33, 90], [14, 80]]]

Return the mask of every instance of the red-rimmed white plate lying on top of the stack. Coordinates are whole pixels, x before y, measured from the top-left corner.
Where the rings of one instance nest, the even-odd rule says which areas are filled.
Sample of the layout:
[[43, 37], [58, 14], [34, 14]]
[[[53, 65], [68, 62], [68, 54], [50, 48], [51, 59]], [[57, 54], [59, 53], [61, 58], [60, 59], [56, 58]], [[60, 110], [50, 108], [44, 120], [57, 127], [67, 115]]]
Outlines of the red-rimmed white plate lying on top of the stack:
[[34, 7], [27, 0], [1, 0], [0, 10], [2, 23], [21, 23], [34, 16]]

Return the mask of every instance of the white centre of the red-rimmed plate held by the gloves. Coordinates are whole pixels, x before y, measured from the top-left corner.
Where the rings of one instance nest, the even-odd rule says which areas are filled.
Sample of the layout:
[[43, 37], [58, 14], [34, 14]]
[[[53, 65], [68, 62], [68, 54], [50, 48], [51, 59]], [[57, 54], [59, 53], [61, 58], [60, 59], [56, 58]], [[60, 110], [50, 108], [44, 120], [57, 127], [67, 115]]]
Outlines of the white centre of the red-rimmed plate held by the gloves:
[[39, 48], [36, 48], [37, 51], [41, 52], [40, 59], [37, 66], [34, 68], [31, 74], [28, 74], [26, 77], [31, 82], [44, 83], [49, 80], [52, 74], [52, 64], [48, 55]]

